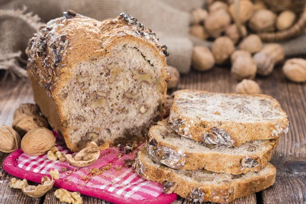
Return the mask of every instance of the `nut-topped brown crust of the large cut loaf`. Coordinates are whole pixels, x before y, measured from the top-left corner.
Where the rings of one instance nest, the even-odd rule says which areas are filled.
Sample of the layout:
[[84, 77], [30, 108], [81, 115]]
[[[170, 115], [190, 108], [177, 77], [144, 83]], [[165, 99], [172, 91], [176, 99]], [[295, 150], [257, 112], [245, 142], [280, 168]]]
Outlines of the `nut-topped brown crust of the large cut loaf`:
[[[26, 53], [29, 57], [27, 71], [32, 82], [34, 100], [46, 116], [50, 125], [64, 137], [71, 151], [79, 151], [72, 143], [62, 113], [63, 100], [58, 96], [61, 87], [71, 78], [72, 69], [79, 63], [110, 55], [112, 48], [120, 43], [134, 43], [147, 46], [155, 58], [165, 67], [162, 79], [170, 80], [166, 70], [167, 47], [158, 44], [155, 33], [145, 29], [129, 15], [97, 21], [75, 14], [63, 13], [63, 17], [49, 21], [29, 41]], [[164, 100], [167, 92], [161, 92]], [[163, 106], [164, 100], [161, 101]], [[161, 107], [162, 108], [162, 107]], [[156, 120], [162, 119], [164, 111], [159, 110]], [[112, 140], [106, 141], [113, 143]]]

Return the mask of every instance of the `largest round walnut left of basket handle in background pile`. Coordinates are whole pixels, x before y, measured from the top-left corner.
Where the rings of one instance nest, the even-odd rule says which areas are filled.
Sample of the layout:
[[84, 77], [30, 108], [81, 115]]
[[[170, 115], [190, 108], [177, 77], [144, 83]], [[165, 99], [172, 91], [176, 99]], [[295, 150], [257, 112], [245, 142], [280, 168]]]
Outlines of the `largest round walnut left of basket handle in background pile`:
[[215, 11], [206, 18], [204, 23], [208, 35], [217, 38], [231, 24], [231, 16], [224, 10]]

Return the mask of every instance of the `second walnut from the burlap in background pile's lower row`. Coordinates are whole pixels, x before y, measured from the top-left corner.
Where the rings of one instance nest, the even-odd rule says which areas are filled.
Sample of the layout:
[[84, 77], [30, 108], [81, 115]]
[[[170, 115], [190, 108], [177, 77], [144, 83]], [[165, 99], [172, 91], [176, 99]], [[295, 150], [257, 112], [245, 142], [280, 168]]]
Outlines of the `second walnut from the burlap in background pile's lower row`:
[[234, 51], [234, 42], [226, 36], [218, 37], [212, 44], [212, 53], [216, 64], [226, 63]]

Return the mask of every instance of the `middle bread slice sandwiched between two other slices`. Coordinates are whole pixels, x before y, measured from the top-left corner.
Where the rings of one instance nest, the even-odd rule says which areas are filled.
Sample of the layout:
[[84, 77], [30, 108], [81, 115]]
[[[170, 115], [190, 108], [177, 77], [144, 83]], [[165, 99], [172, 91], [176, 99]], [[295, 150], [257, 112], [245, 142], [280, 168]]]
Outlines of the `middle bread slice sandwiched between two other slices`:
[[260, 171], [272, 158], [278, 141], [253, 140], [239, 147], [205, 145], [177, 135], [168, 120], [152, 126], [148, 137], [148, 154], [158, 163], [182, 170], [198, 170], [231, 174]]

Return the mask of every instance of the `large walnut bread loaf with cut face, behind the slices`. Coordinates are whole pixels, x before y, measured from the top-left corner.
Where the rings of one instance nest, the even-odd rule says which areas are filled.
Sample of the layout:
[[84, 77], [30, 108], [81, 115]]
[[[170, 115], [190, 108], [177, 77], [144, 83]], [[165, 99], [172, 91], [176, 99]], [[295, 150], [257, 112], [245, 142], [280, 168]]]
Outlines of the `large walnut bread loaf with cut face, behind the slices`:
[[141, 140], [163, 117], [167, 47], [136, 18], [50, 20], [29, 42], [34, 100], [68, 148]]

